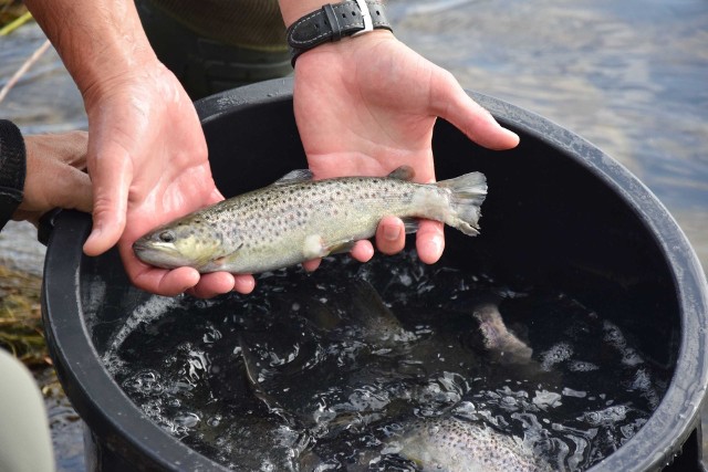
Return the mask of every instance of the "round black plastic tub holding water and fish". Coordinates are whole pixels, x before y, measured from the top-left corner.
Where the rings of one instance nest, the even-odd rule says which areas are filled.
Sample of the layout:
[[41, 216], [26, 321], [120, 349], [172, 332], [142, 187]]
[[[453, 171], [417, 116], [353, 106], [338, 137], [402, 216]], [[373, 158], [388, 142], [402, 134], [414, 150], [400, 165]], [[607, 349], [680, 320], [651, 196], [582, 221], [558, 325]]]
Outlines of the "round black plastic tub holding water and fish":
[[[521, 136], [513, 150], [470, 143], [440, 120], [439, 179], [480, 170], [490, 192], [482, 234], [447, 232], [446, 256], [498, 279], [532, 280], [589, 301], [622, 300], [642, 317], [641, 347], [673, 368], [657, 410], [592, 471], [702, 470], [699, 412], [708, 384], [708, 289], [687, 239], [624, 167], [573, 133], [473, 94]], [[225, 196], [306, 166], [292, 114], [292, 82], [275, 80], [197, 102]], [[101, 361], [110, 331], [148, 294], [127, 282], [117, 251], [82, 253], [90, 217], [62, 212], [48, 244], [43, 316], [60, 380], [86, 424], [90, 470], [226, 470], [150, 422]]]

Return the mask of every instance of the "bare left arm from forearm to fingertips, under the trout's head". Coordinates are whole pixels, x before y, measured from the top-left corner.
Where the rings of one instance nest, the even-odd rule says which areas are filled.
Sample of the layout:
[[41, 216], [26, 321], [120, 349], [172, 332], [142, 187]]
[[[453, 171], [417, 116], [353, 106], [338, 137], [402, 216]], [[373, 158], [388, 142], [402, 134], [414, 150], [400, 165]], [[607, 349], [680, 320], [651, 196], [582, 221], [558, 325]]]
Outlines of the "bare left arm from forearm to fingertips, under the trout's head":
[[249, 292], [253, 277], [190, 268], [173, 271], [137, 260], [133, 242], [154, 227], [222, 199], [216, 189], [196, 111], [156, 57], [135, 3], [28, 0], [84, 98], [93, 230], [84, 252], [117, 243], [132, 282], [163, 295]]

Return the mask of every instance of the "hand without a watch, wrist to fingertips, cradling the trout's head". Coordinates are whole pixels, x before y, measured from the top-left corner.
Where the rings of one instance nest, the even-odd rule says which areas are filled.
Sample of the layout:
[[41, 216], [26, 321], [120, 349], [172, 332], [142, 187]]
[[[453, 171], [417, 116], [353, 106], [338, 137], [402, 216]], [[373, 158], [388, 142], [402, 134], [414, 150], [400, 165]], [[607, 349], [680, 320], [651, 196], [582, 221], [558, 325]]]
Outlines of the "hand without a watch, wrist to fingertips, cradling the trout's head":
[[162, 295], [252, 291], [251, 275], [158, 269], [133, 252], [148, 230], [223, 199], [191, 99], [173, 73], [157, 61], [142, 64], [84, 91], [84, 102], [94, 201], [84, 252], [97, 255], [117, 242], [131, 281]]

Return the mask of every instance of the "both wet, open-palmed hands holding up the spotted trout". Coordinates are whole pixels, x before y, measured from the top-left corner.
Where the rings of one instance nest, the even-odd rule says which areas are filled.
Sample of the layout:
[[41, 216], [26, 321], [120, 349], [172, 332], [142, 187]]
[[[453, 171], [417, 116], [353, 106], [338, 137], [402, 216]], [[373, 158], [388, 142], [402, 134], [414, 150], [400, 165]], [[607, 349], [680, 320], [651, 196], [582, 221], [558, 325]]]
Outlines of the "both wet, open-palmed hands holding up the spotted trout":
[[[302, 54], [293, 99], [316, 178], [381, 176], [405, 164], [416, 170], [416, 180], [434, 181], [430, 146], [438, 116], [482, 146], [507, 149], [518, 143], [517, 135], [500, 127], [450, 73], [387, 31]], [[133, 253], [133, 242], [148, 230], [222, 199], [196, 112], [175, 76], [155, 60], [85, 90], [84, 101], [94, 217], [84, 252], [97, 255], [117, 242], [133, 283], [163, 295], [250, 292], [251, 275], [200, 275], [191, 268], [168, 271], [148, 266]], [[385, 253], [400, 251], [403, 223], [395, 218], [382, 221], [376, 244]], [[423, 222], [416, 245], [424, 262], [437, 261], [444, 250], [441, 223]], [[352, 255], [367, 261], [373, 252], [371, 242], [360, 241]], [[305, 268], [317, 264], [311, 261]]]

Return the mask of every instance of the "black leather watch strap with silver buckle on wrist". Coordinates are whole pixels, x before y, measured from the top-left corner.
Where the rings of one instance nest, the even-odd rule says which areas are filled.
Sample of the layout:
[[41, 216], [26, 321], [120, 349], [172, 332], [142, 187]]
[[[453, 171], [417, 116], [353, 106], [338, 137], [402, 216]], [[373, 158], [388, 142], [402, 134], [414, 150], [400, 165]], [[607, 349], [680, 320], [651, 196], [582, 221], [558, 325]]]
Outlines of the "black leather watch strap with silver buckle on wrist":
[[385, 10], [381, 1], [358, 0], [327, 3], [305, 14], [288, 28], [293, 66], [300, 54], [319, 44], [377, 29], [393, 31]]

